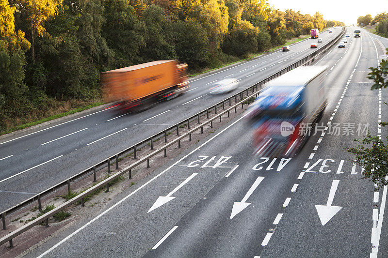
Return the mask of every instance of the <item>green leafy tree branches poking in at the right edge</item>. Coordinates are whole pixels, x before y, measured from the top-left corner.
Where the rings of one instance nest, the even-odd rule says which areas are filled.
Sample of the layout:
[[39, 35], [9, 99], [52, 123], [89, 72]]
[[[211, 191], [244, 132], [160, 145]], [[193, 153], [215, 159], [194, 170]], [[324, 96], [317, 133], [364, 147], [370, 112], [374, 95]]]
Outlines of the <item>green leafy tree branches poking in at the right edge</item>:
[[[388, 51], [388, 48], [387, 48]], [[387, 52], [388, 54], [388, 52]], [[371, 90], [388, 87], [388, 61], [382, 60], [379, 67], [370, 67], [371, 73], [368, 78], [373, 80]], [[387, 103], [384, 103], [387, 104]], [[380, 122], [381, 126], [388, 125], [388, 122]], [[356, 164], [361, 165], [363, 178], [369, 178], [377, 186], [376, 190], [388, 185], [385, 179], [388, 176], [388, 137], [383, 141], [379, 136], [368, 135], [355, 139], [358, 144], [355, 148], [345, 148], [355, 156]]]

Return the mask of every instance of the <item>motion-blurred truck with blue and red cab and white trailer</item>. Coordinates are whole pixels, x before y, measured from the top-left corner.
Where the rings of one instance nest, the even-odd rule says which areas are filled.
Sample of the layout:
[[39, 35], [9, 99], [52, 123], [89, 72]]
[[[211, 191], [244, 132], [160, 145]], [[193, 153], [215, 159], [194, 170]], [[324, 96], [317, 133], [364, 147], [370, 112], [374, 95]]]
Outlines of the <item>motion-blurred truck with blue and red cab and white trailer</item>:
[[267, 83], [247, 110], [255, 155], [289, 157], [310, 136], [326, 107], [327, 66], [301, 66]]

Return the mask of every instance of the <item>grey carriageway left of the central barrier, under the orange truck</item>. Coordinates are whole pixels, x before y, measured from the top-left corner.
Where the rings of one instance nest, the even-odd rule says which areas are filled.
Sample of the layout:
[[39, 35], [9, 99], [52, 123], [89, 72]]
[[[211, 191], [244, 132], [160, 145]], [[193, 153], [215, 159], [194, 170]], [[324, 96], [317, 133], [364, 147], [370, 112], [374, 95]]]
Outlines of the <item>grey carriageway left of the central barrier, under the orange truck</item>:
[[[325, 44], [339, 33], [324, 31], [320, 37]], [[239, 79], [237, 92], [315, 51], [309, 48], [315, 41], [307, 39], [289, 52], [275, 51], [193, 78], [185, 94], [142, 113], [121, 115], [99, 108], [1, 137], [0, 211], [222, 101], [227, 95], [212, 95], [210, 90], [217, 80]]]

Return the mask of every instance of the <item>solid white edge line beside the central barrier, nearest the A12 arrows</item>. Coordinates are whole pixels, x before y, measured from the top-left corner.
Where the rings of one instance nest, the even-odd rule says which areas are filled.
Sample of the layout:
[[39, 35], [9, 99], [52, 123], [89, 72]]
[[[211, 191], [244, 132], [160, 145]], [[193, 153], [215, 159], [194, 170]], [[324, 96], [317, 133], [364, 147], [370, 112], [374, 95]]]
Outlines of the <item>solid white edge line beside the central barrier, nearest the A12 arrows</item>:
[[135, 189], [132, 193], [130, 193], [129, 195], [127, 195], [126, 197], [122, 198], [121, 200], [119, 200], [118, 202], [116, 202], [115, 204], [113, 204], [110, 208], [106, 209], [104, 212], [101, 212], [99, 215], [97, 215], [95, 218], [93, 218], [92, 220], [90, 220], [88, 223], [86, 223], [85, 225], [83, 225], [81, 228], [77, 229], [76, 231], [74, 231], [73, 233], [71, 233], [70, 235], [68, 235], [67, 237], [65, 237], [63, 240], [61, 240], [60, 242], [56, 243], [54, 246], [52, 246], [51, 248], [49, 248], [46, 252], [44, 252], [43, 254], [41, 254], [40, 256], [38, 256], [37, 258], [42, 258], [43, 256], [47, 255], [49, 252], [51, 252], [52, 250], [54, 250], [55, 248], [57, 248], [59, 245], [61, 245], [62, 243], [65, 243], [68, 239], [70, 239], [71, 237], [73, 237], [75, 234], [77, 234], [78, 232], [80, 232], [82, 229], [86, 228], [87, 226], [89, 226], [90, 224], [92, 224], [93, 222], [95, 222], [97, 219], [99, 219], [101, 216], [103, 216], [105, 213], [111, 211], [114, 207], [116, 207], [117, 205], [119, 205], [120, 203], [122, 203], [123, 201], [125, 201], [126, 199], [128, 199], [129, 197], [131, 197], [132, 195], [134, 195], [135, 193], [137, 193], [138, 191], [140, 191], [141, 189], [143, 189], [145, 186], [147, 186], [150, 182], [154, 181], [155, 179], [157, 179], [158, 177], [160, 177], [162, 174], [164, 174], [167, 170], [169, 170], [171, 167], [174, 167], [175, 165], [177, 165], [179, 162], [181, 162], [183, 159], [187, 158], [188, 156], [190, 156], [191, 154], [193, 154], [194, 152], [196, 152], [197, 150], [199, 150], [200, 148], [202, 148], [203, 146], [205, 146], [208, 142], [210, 142], [212, 139], [214, 139], [215, 137], [219, 136], [220, 134], [222, 134], [223, 132], [225, 132], [228, 128], [230, 128], [231, 126], [233, 126], [235, 123], [237, 123], [238, 121], [242, 120], [245, 116], [247, 116], [248, 114], [245, 114], [243, 115], [241, 118], [239, 118], [238, 120], [234, 121], [233, 123], [229, 124], [226, 128], [224, 128], [222, 131], [220, 131], [218, 134], [216, 134], [215, 136], [211, 137], [209, 140], [207, 140], [206, 142], [202, 143], [200, 146], [198, 146], [197, 148], [195, 148], [193, 151], [189, 152], [188, 154], [186, 154], [185, 156], [183, 156], [182, 158], [180, 158], [178, 161], [176, 161], [173, 165], [171, 165], [170, 167], [167, 167], [166, 169], [164, 169], [162, 172], [160, 172], [158, 175], [156, 175], [155, 177], [151, 178], [149, 181], [147, 181], [146, 183], [144, 183], [143, 185], [141, 185], [139, 188]]

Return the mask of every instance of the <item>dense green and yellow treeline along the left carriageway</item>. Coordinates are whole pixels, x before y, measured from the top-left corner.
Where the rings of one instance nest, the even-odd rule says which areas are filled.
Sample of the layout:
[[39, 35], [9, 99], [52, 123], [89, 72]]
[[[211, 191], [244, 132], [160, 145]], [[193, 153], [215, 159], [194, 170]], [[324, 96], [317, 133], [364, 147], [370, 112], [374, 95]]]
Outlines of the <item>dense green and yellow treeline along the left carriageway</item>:
[[0, 130], [96, 100], [103, 71], [163, 59], [195, 71], [326, 27], [267, 0], [0, 0], [0, 18]]

